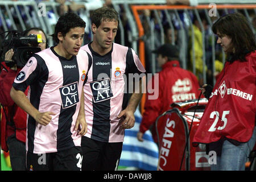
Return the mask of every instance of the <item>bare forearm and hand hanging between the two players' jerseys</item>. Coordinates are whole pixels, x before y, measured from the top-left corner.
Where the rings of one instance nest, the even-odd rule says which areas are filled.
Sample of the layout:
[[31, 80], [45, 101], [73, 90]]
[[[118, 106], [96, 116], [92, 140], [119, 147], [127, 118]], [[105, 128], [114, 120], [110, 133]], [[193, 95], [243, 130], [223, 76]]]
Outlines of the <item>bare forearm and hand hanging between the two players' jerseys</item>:
[[85, 111], [84, 111], [84, 89], [82, 89], [81, 99], [80, 99], [80, 108], [79, 115], [76, 120], [75, 130], [80, 130], [79, 135], [84, 136], [87, 132], [87, 123], [85, 120]]

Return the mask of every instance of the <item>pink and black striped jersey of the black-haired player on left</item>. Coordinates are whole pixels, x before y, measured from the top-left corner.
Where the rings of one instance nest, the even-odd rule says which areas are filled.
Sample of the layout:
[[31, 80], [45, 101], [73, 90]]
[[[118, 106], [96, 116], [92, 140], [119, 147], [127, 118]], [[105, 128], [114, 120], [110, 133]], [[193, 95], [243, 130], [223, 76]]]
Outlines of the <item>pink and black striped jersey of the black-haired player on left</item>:
[[19, 72], [13, 87], [24, 91], [30, 85], [31, 104], [42, 113], [55, 113], [47, 126], [28, 116], [27, 151], [42, 154], [80, 146], [81, 137], [74, 129], [91, 65], [92, 57], [84, 50], [67, 60], [51, 47], [36, 53]]

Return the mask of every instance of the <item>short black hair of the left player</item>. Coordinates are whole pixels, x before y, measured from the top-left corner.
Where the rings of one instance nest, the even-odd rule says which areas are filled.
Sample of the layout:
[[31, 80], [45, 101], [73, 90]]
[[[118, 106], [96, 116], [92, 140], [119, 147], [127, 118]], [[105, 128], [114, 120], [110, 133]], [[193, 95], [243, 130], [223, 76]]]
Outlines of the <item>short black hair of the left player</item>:
[[85, 22], [80, 18], [79, 15], [75, 13], [66, 13], [63, 16], [60, 16], [58, 22], [55, 25], [55, 30], [53, 40], [56, 43], [59, 43], [58, 33], [61, 32], [65, 36], [71, 28], [83, 27], [85, 28]]

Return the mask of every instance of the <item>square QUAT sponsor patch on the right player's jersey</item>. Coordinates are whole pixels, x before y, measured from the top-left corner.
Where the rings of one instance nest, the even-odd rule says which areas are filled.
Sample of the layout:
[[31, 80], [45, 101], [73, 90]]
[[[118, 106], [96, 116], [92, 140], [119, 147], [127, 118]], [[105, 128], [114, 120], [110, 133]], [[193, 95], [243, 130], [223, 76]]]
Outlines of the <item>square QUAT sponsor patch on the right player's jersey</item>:
[[93, 93], [93, 102], [101, 102], [113, 97], [109, 78], [90, 82], [90, 88]]

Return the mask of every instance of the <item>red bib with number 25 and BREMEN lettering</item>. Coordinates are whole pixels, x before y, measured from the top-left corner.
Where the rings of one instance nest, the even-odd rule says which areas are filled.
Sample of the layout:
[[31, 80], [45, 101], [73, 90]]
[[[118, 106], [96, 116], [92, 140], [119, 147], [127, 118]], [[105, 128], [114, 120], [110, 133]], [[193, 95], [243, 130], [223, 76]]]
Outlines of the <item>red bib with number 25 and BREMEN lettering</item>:
[[226, 62], [216, 81], [200, 125], [193, 138], [212, 143], [221, 138], [247, 142], [255, 127], [256, 51], [245, 62]]

